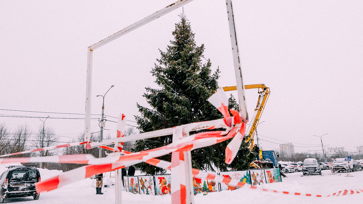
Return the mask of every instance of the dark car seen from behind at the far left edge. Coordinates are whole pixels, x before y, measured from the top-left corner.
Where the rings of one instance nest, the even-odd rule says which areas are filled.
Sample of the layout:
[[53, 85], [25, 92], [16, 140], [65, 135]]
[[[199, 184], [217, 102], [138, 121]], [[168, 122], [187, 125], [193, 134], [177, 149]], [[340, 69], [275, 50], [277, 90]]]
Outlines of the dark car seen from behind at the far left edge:
[[0, 203], [6, 198], [33, 196], [39, 199], [35, 183], [40, 181], [40, 173], [34, 166], [10, 166], [0, 176]]

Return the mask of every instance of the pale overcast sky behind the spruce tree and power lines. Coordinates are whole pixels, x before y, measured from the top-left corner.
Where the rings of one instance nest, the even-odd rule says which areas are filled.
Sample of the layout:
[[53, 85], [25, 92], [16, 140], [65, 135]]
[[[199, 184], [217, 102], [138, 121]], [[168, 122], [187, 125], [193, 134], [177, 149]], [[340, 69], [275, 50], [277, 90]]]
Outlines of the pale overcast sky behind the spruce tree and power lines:
[[[85, 113], [87, 47], [174, 3], [155, 1], [0, 1], [0, 109]], [[330, 147], [355, 151], [363, 145], [362, 1], [233, 1], [244, 84], [264, 83], [271, 94], [257, 130], [264, 149], [292, 142], [295, 151]], [[184, 5], [198, 45], [220, 87], [236, 84], [224, 0], [195, 0]], [[95, 50], [92, 114], [130, 121], [136, 102], [146, 105], [144, 87], [156, 87], [150, 74], [173, 39], [181, 8]], [[257, 90], [246, 90], [252, 117]], [[62, 141], [82, 134], [84, 115], [0, 110], [0, 123], [15, 129], [27, 123], [34, 132], [54, 128]], [[94, 115], [92, 118], [99, 118]], [[116, 118], [107, 117], [111, 121]], [[44, 119], [43, 119], [44, 120]], [[99, 131], [98, 121], [91, 124]], [[129, 122], [128, 125], [136, 125]], [[115, 136], [116, 123], [105, 134]], [[65, 138], [71, 137], [71, 138]], [[267, 140], [267, 141], [265, 141]], [[280, 141], [282, 140], [282, 141]], [[269, 142], [268, 142], [269, 141]]]

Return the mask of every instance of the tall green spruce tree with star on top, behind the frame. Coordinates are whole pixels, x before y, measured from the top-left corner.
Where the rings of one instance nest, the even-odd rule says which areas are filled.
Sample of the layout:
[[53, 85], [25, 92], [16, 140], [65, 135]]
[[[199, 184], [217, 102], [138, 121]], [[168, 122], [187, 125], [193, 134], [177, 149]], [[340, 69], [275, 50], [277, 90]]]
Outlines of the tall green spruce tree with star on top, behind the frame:
[[[146, 87], [147, 93], [143, 94], [148, 104], [152, 107], [140, 106], [141, 116], [135, 116], [140, 132], [148, 132], [179, 126], [183, 124], [210, 121], [223, 118], [223, 115], [207, 101], [219, 87], [219, 68], [212, 73], [211, 61], [204, 58], [204, 44], [197, 46], [194, 40], [190, 22], [184, 17], [175, 24], [172, 32], [174, 40], [170, 41], [166, 52], [159, 49], [160, 59], [156, 59], [152, 76], [160, 89]], [[205, 59], [203, 63], [202, 60]], [[237, 101], [232, 94], [229, 98], [229, 109], [238, 110]], [[191, 134], [196, 132], [191, 132]], [[172, 135], [158, 138], [137, 140], [134, 152], [150, 150], [165, 146], [172, 142]], [[227, 140], [213, 146], [192, 151], [192, 166], [206, 171], [213, 171], [212, 165], [221, 171], [227, 167], [235, 170], [245, 170], [249, 167], [253, 155], [250, 155], [249, 143], [242, 142], [236, 159], [231, 165], [224, 163], [225, 148], [230, 142]], [[158, 159], [171, 161], [171, 154]], [[165, 170], [146, 163], [135, 165], [147, 174], [162, 174]]]

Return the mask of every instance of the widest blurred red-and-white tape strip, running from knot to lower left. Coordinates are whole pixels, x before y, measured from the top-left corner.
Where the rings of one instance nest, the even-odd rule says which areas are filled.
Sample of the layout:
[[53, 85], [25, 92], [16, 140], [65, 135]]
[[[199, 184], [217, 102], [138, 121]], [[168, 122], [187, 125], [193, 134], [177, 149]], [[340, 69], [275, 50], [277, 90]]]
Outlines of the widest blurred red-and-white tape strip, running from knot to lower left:
[[[226, 136], [215, 136], [219, 134], [224, 134], [225, 133], [224, 131], [201, 132], [153, 150], [146, 150], [123, 156], [109, 155], [106, 158], [87, 158], [88, 160], [82, 160], [80, 163], [91, 164], [91, 165], [79, 167], [77, 169], [65, 172], [62, 175], [41, 181], [36, 184], [36, 188], [38, 192], [51, 191], [53, 189], [62, 187], [64, 185], [71, 184], [79, 180], [88, 178], [95, 174], [107, 171], [114, 171], [119, 168], [124, 168], [125, 166], [131, 166], [140, 162], [147, 161], [148, 163], [161, 167], [164, 166], [166, 162], [162, 162], [161, 160], [154, 160], [155, 157], [170, 154], [171, 152], [176, 152], [176, 151], [190, 151], [196, 148], [201, 148], [219, 142], [223, 142], [224, 140], [232, 138], [236, 134], [237, 130], [238, 127], [234, 127], [231, 131], [228, 132]], [[207, 133], [211, 133], [211, 135], [208, 135]], [[77, 163], [78, 162], [77, 160], [79, 159], [79, 158], [74, 158], [74, 160], [72, 160], [71, 158], [68, 158], [68, 156], [71, 155], [63, 155], [63, 156], [64, 158], [68, 159], [67, 162], [69, 163]], [[36, 159], [42, 160], [44, 158], [46, 157], [38, 157]], [[16, 158], [16, 159], [21, 159], [21, 158]], [[35, 159], [35, 158], [30, 158], [30, 159]], [[15, 160], [13, 160], [13, 158], [4, 158], [3, 161], [14, 162]], [[47, 159], [47, 162], [60, 162], [60, 160], [57, 159], [52, 161], [52, 159]]]

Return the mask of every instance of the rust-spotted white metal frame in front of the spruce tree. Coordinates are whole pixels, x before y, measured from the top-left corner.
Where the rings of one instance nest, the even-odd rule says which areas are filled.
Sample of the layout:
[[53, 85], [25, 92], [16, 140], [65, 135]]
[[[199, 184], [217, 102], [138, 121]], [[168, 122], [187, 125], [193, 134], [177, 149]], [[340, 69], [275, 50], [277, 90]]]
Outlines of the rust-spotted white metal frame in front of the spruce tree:
[[[145, 17], [144, 19], [141, 19], [137, 21], [136, 23], [127, 26], [126, 28], [120, 30], [117, 33], [114, 33], [113, 35], [97, 42], [94, 45], [91, 45], [88, 47], [88, 53], [87, 53], [87, 81], [86, 81], [86, 110], [85, 110], [85, 141], [90, 140], [91, 136], [91, 93], [92, 93], [92, 57], [93, 57], [93, 51], [113, 40], [116, 40], [117, 38], [123, 36], [124, 34], [127, 34], [131, 32], [132, 30], [135, 30], [152, 20], [155, 20], [181, 6], [184, 4], [187, 4], [191, 2], [192, 0], [179, 0], [176, 1], [173, 4], [168, 5], [167, 7], [151, 14], [150, 16]], [[234, 27], [234, 19], [233, 19], [233, 10], [232, 10], [232, 2], [231, 0], [226, 0], [227, 3], [227, 14], [228, 14], [228, 22], [229, 22], [229, 31], [231, 33], [231, 43], [232, 43], [232, 54], [233, 54], [233, 62], [234, 62], [234, 71], [236, 74], [236, 82], [237, 82], [237, 93], [238, 93], [238, 102], [240, 104], [240, 114], [248, 120], [248, 115], [246, 111], [246, 104], [245, 104], [245, 97], [244, 97], [244, 85], [242, 82], [242, 70], [241, 70], [241, 64], [240, 64], [240, 57], [238, 53], [238, 45], [237, 45], [237, 36], [236, 36], [236, 29]], [[176, 139], [176, 138], [175, 138]], [[173, 138], [174, 141], [174, 138]], [[185, 155], [187, 158], [185, 162], [185, 169], [188, 170], [191, 165], [190, 160], [190, 152], [186, 152], [188, 154]], [[118, 175], [118, 172], [116, 172]], [[115, 177], [118, 177], [118, 176]], [[185, 178], [191, 178], [191, 171], [185, 171], [184, 172]], [[117, 181], [116, 183], [120, 185], [120, 182], [118, 178], [115, 178]], [[190, 179], [186, 179], [187, 185], [190, 184]], [[116, 187], [116, 189], [121, 190], [122, 188], [120, 186]], [[188, 199], [186, 203], [194, 203], [193, 197], [189, 197], [192, 195], [192, 186], [190, 188], [187, 188], [187, 195]], [[121, 204], [121, 192], [115, 192], [115, 203]]]

